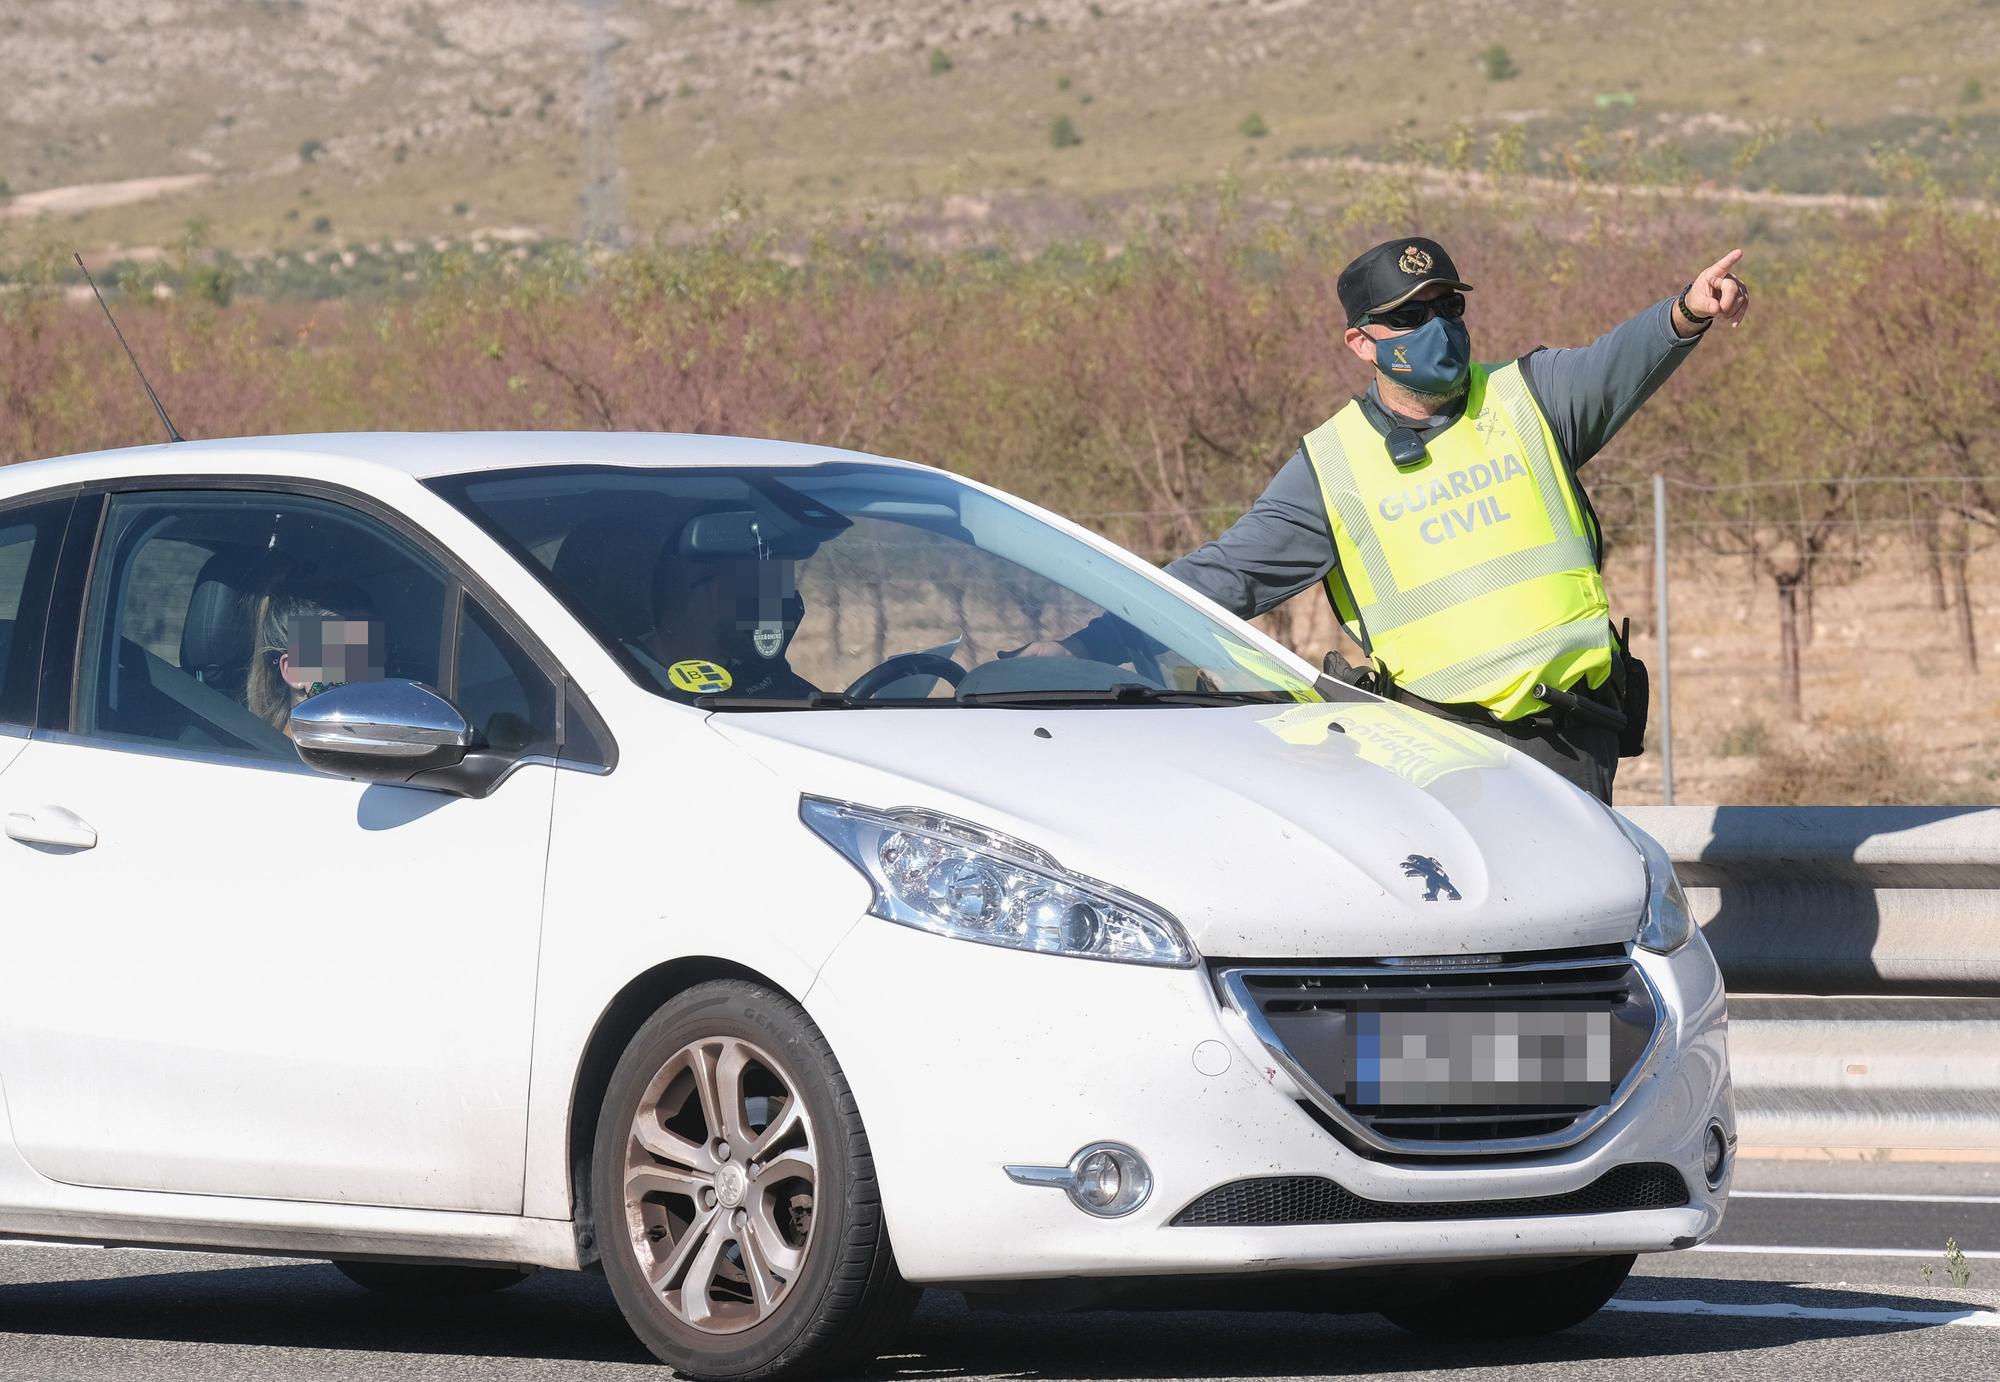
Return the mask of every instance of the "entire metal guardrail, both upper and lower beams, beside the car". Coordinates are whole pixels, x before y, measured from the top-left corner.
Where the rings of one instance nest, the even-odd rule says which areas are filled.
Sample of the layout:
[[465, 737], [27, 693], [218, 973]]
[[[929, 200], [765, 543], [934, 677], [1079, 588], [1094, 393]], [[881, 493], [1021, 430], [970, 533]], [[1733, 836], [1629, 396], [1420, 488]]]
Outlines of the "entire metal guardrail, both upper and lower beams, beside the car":
[[1746, 1146], [2000, 1158], [2000, 808], [1624, 814], [1730, 984]]

